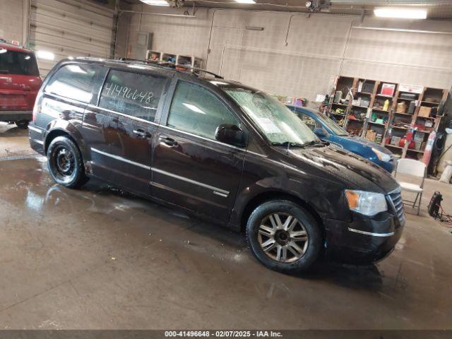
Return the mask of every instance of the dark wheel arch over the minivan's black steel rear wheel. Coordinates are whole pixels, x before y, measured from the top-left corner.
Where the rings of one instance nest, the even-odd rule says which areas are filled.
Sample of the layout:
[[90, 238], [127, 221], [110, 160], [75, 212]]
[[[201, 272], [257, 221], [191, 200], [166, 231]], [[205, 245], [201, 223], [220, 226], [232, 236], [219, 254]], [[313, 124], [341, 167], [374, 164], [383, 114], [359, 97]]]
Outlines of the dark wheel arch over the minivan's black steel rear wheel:
[[[81, 128], [81, 121], [77, 121], [78, 125]], [[77, 127], [71, 123], [71, 121], [63, 120], [63, 119], [55, 119], [47, 124], [46, 131], [44, 132], [44, 151], [47, 152], [47, 147], [49, 146], [50, 140], [47, 140], [49, 136], [52, 138], [54, 133], [61, 134], [69, 134], [73, 141], [76, 142], [78, 148], [80, 149], [83, 157], [83, 162], [87, 162], [91, 160], [91, 154], [88, 151], [88, 147], [81, 135], [80, 131], [78, 131]]]

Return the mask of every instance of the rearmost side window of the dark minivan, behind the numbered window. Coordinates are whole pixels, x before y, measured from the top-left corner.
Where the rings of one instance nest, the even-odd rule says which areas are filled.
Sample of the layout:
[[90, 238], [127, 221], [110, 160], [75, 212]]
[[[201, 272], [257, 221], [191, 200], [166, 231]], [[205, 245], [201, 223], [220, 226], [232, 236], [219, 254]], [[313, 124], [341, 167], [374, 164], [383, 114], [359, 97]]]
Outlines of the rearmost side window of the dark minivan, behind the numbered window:
[[89, 103], [93, 97], [91, 92], [95, 73], [99, 69], [99, 66], [83, 64], [63, 66], [47, 83], [45, 93]]

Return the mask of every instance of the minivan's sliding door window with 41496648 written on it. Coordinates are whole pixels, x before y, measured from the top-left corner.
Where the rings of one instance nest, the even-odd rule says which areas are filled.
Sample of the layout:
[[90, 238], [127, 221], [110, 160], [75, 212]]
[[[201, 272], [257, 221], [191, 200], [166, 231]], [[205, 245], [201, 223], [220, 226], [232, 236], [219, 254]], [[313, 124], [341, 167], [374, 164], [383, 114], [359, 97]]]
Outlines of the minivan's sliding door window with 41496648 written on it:
[[109, 71], [99, 106], [144, 119], [155, 120], [166, 78], [157, 74]]

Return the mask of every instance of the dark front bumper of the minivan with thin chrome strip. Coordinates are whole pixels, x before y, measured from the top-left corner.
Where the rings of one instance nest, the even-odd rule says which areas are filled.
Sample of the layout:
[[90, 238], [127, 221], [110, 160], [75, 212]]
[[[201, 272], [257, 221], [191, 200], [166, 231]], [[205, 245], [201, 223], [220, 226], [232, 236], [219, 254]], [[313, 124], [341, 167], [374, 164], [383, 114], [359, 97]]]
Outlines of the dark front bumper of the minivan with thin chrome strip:
[[352, 213], [352, 222], [333, 219], [324, 222], [328, 258], [354, 264], [372, 263], [391, 254], [404, 226], [388, 212], [372, 218]]

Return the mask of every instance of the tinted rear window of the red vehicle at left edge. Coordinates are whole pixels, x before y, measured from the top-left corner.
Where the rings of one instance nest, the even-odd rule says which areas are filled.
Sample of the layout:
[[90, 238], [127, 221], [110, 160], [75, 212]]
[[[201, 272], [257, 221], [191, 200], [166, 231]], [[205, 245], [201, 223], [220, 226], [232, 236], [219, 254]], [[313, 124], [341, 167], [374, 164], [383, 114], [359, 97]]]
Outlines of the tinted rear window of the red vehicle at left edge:
[[0, 47], [0, 74], [39, 76], [35, 55]]

